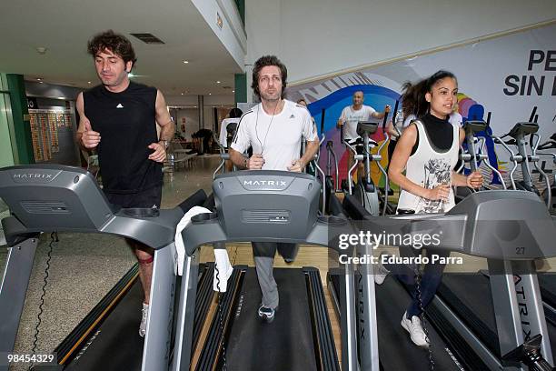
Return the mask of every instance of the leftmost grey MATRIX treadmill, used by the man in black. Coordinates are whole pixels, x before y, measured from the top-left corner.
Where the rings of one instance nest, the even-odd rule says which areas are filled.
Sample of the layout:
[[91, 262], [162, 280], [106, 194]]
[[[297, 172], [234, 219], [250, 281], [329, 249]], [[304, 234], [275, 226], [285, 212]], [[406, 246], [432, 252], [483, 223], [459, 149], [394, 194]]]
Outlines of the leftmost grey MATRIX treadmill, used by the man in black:
[[[108, 233], [133, 238], [154, 248], [151, 305], [144, 339], [139, 338], [136, 333], [138, 323], [131, 321], [133, 328], [127, 329], [124, 327], [130, 326], [129, 320], [124, 321], [121, 326], [112, 326], [109, 318], [104, 323], [102, 334], [91, 343], [91, 349], [85, 356], [77, 353], [81, 356], [77, 361], [79, 366], [75, 369], [86, 369], [87, 366], [84, 365], [90, 365], [89, 362], [94, 362], [95, 365], [89, 366], [91, 369], [108, 369], [106, 364], [121, 359], [120, 356], [128, 352], [128, 356], [136, 357], [138, 362], [134, 364], [133, 360], [125, 359], [122, 362], [126, 361], [126, 365], [129, 366], [123, 366], [124, 369], [168, 369], [172, 357], [176, 286], [175, 226], [184, 216], [184, 212], [204, 203], [204, 191], [198, 191], [173, 209], [115, 209], [107, 202], [94, 177], [81, 168], [62, 165], [21, 165], [0, 169], [0, 197], [12, 213], [12, 216], [2, 220], [10, 250], [0, 287], [0, 318], [3, 319], [0, 322], [0, 354], [3, 355], [0, 359], [0, 370], [7, 370], [6, 355], [13, 353], [38, 244], [37, 237], [46, 231]], [[133, 303], [133, 313], [136, 313], [139, 306], [136, 300], [141, 296], [141, 288], [133, 285], [136, 279], [134, 277], [136, 272], [133, 268], [125, 275], [124, 281], [116, 285], [104, 298], [102, 306], [94, 308], [94, 312], [107, 311], [109, 306], [114, 306], [118, 301], [118, 296], [124, 296], [120, 303], [124, 306]], [[127, 294], [126, 287], [130, 288]], [[120, 316], [125, 312], [124, 306], [116, 307], [113, 316]], [[94, 328], [87, 319], [82, 325], [89, 330]], [[95, 331], [98, 333], [98, 330]], [[133, 339], [129, 344], [122, 342], [127, 331], [130, 339]], [[89, 331], [89, 334], [91, 332]], [[116, 338], [119, 342], [114, 346]], [[101, 356], [95, 353], [96, 347], [104, 348], [108, 353]], [[62, 350], [62, 347], [58, 347], [57, 350]], [[71, 349], [69, 353], [72, 353]], [[87, 354], [91, 355], [90, 358]], [[67, 352], [59, 355], [62, 357], [57, 361], [62, 361], [66, 355]], [[88, 358], [88, 362], [84, 358]], [[100, 365], [101, 362], [105, 364]]]

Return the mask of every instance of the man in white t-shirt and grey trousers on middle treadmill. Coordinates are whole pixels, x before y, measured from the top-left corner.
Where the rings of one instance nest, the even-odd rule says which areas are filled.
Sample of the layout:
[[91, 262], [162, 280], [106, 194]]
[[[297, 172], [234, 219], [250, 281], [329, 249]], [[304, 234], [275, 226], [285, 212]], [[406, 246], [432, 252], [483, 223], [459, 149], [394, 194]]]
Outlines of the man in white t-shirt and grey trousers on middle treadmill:
[[[274, 55], [265, 55], [253, 65], [253, 92], [261, 103], [243, 114], [230, 145], [230, 159], [240, 169], [301, 172], [319, 148], [313, 121], [303, 105], [283, 99], [287, 69]], [[300, 158], [302, 137], [307, 141]], [[249, 158], [243, 152], [253, 147]], [[253, 256], [263, 293], [260, 317], [271, 322], [278, 307], [278, 286], [273, 276], [276, 249], [286, 257], [293, 244], [253, 243]], [[288, 256], [290, 257], [290, 256]]]

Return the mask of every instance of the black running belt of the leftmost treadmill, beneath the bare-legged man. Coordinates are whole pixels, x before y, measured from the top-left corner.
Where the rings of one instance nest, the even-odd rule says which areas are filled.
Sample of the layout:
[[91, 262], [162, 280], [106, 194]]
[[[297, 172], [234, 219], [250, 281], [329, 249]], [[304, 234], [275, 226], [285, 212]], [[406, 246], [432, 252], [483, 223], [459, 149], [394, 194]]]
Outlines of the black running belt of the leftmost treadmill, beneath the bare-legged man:
[[[137, 279], [114, 307], [102, 326], [84, 346], [66, 370], [140, 370], [143, 361], [144, 338], [139, 336], [143, 289]], [[133, 336], [130, 336], [132, 335]], [[102, 341], [94, 341], [97, 336]], [[86, 355], [86, 356], [85, 356]]]

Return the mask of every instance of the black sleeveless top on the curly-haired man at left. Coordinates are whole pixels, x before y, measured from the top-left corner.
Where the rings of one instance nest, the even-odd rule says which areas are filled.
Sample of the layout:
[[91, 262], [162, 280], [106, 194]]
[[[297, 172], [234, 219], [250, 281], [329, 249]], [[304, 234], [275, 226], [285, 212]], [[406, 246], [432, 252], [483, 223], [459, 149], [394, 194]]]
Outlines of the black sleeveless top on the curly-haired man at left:
[[148, 159], [158, 142], [156, 88], [130, 82], [121, 93], [98, 85], [84, 92], [84, 115], [100, 133], [97, 146], [104, 191], [133, 194], [162, 184], [162, 164]]

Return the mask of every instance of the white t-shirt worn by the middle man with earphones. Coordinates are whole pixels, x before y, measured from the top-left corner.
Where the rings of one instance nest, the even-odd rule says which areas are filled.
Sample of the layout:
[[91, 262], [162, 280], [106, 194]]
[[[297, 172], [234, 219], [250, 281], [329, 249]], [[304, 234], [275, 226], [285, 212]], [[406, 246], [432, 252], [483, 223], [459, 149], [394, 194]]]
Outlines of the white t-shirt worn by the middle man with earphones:
[[300, 158], [302, 137], [318, 139], [311, 115], [303, 105], [284, 100], [280, 114], [268, 115], [263, 104], [243, 114], [231, 147], [243, 153], [251, 145], [253, 154], [263, 155], [263, 170], [287, 170]]

